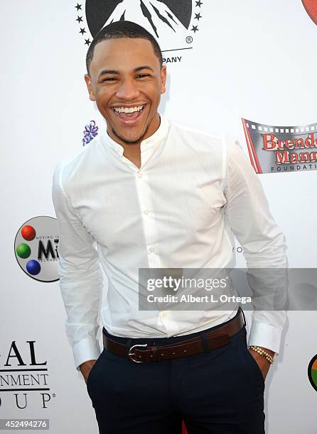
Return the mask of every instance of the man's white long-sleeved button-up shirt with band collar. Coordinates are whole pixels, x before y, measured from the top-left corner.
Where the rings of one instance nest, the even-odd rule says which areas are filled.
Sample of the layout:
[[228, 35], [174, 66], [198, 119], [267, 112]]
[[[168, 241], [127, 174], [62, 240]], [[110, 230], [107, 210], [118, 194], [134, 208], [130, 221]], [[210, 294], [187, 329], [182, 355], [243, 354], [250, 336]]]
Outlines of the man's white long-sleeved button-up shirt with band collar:
[[[77, 369], [100, 355], [99, 311], [109, 333], [129, 338], [195, 333], [237, 312], [139, 311], [139, 268], [226, 267], [232, 232], [247, 267], [286, 267], [284, 235], [234, 139], [161, 116], [140, 147], [138, 168], [105, 132], [55, 167], [60, 289]], [[254, 311], [249, 345], [279, 352], [284, 322], [284, 311]]]

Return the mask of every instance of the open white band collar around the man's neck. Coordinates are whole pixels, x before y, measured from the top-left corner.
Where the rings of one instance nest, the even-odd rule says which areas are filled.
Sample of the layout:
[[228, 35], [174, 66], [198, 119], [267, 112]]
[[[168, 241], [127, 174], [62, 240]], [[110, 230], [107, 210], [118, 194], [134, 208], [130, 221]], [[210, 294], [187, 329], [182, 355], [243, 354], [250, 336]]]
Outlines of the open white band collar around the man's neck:
[[[159, 116], [161, 118], [160, 126], [154, 134], [150, 135], [150, 137], [146, 138], [140, 143], [141, 152], [144, 152], [150, 148], [151, 151], [154, 152], [154, 150], [159, 148], [159, 145], [166, 138], [168, 133], [168, 121], [161, 114]], [[123, 156], [124, 147], [122, 145], [119, 145], [119, 143], [115, 142], [107, 133], [103, 135], [103, 138], [107, 149], [112, 150], [112, 152], [119, 155], [119, 157]]]

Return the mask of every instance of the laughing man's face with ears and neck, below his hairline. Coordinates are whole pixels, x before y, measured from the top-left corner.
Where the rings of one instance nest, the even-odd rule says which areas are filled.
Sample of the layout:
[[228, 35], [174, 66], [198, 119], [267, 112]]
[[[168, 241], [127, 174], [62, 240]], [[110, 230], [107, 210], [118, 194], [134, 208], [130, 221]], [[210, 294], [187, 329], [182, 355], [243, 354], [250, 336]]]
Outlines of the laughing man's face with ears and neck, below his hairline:
[[140, 167], [139, 145], [160, 125], [157, 108], [165, 92], [166, 67], [149, 39], [104, 38], [96, 38], [87, 54], [90, 99], [106, 119], [109, 137]]

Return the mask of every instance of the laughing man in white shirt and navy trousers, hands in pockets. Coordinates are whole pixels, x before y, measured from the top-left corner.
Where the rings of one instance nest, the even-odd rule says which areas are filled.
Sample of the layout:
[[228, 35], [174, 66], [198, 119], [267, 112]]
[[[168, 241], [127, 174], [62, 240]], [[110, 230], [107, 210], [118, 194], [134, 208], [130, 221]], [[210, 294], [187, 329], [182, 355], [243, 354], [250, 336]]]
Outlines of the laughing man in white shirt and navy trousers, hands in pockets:
[[158, 113], [166, 67], [137, 24], [114, 22], [98, 33], [85, 81], [107, 133], [55, 168], [53, 201], [66, 332], [100, 433], [175, 434], [182, 420], [188, 434], [264, 433], [264, 379], [284, 311], [253, 313], [248, 350], [237, 304], [138, 304], [140, 268], [226, 267], [231, 230], [250, 269], [286, 266], [284, 235], [256, 174], [234, 141]]

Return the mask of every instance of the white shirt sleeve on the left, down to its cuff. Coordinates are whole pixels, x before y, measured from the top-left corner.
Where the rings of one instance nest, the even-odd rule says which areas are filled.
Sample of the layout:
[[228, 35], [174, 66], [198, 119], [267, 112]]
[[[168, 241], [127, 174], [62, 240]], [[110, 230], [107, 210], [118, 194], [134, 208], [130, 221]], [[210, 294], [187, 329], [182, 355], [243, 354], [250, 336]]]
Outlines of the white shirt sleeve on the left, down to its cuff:
[[63, 170], [55, 167], [52, 197], [58, 221], [58, 274], [67, 314], [65, 331], [75, 367], [100, 355], [97, 340], [102, 272], [95, 240], [82, 225], [63, 189]]

